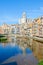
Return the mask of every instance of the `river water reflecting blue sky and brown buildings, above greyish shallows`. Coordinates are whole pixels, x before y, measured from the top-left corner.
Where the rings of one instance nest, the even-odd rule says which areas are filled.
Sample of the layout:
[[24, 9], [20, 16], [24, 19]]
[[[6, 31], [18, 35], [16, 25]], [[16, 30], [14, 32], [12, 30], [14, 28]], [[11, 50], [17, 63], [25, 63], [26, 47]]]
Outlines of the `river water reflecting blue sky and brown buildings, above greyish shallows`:
[[34, 41], [27, 37], [9, 37], [8, 42], [0, 43], [0, 63], [11, 56], [18, 54], [31, 54], [38, 59], [43, 59], [43, 43]]

